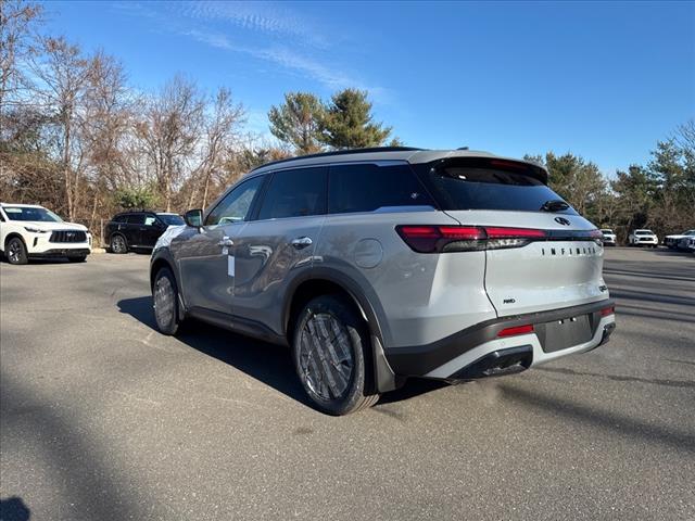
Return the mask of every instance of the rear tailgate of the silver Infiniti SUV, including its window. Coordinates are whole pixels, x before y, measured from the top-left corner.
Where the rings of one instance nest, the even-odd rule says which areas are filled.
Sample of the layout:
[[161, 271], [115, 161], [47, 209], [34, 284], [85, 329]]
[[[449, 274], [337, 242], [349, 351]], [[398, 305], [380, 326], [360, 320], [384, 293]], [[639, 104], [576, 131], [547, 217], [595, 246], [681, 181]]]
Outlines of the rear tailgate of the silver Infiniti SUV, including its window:
[[601, 232], [546, 185], [540, 165], [460, 156], [416, 170], [441, 209], [485, 229], [484, 285], [497, 316], [608, 297]]

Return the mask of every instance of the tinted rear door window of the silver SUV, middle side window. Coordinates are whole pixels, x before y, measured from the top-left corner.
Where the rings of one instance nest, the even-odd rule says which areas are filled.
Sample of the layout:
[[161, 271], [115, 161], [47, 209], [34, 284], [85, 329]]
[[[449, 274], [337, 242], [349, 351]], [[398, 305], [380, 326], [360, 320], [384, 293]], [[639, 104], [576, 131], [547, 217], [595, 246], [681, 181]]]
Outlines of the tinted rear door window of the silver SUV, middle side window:
[[326, 213], [325, 167], [276, 171], [263, 199], [258, 219]]

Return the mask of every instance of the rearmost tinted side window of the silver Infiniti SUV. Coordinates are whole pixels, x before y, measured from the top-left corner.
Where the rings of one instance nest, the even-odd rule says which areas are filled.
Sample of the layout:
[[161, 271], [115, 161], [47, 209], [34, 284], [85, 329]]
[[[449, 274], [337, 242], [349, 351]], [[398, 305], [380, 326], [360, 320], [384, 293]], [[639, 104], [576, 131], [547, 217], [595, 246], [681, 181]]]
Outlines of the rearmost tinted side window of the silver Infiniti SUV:
[[328, 213], [374, 212], [387, 206], [433, 206], [407, 165], [331, 166]]

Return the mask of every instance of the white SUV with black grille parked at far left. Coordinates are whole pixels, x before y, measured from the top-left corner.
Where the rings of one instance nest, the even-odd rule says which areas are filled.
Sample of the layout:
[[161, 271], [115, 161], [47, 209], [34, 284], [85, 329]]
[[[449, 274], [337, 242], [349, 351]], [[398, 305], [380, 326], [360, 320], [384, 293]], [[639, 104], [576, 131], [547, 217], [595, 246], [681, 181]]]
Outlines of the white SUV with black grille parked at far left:
[[0, 203], [0, 252], [10, 264], [26, 264], [29, 257], [80, 263], [91, 253], [91, 234], [43, 206]]

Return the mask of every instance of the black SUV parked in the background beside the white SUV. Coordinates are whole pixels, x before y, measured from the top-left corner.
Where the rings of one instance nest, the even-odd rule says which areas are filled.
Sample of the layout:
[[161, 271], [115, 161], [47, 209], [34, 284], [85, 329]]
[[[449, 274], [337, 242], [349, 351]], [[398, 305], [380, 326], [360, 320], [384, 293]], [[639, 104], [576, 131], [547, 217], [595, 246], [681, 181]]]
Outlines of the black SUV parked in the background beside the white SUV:
[[169, 226], [184, 225], [178, 214], [164, 212], [123, 212], [106, 225], [104, 240], [112, 253], [151, 250]]

